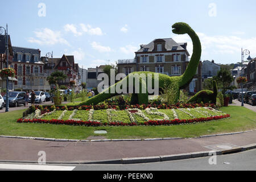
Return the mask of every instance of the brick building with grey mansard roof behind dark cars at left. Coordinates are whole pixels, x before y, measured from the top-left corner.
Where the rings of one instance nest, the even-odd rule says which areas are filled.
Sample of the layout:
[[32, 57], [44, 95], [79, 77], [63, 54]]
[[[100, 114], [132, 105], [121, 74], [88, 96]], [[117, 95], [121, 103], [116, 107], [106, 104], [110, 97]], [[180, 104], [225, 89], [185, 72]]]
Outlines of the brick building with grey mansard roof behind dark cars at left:
[[48, 73], [44, 72], [44, 63], [40, 59], [41, 51], [39, 49], [14, 47], [13, 46], [13, 63], [15, 69], [14, 89], [22, 91], [50, 90], [47, 81]]

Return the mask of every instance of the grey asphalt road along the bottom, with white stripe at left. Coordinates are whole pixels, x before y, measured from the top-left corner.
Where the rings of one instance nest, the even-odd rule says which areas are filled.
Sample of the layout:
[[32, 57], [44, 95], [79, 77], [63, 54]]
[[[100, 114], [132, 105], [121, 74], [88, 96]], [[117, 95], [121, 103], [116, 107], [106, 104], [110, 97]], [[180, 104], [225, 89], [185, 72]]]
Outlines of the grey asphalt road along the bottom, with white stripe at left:
[[[82, 164], [38, 165], [1, 163], [0, 170], [64, 170], [64, 171], [248, 171], [256, 170], [256, 149], [237, 154], [216, 156], [216, 164], [209, 164], [210, 157], [144, 164]], [[211, 160], [212, 161], [212, 160]]]

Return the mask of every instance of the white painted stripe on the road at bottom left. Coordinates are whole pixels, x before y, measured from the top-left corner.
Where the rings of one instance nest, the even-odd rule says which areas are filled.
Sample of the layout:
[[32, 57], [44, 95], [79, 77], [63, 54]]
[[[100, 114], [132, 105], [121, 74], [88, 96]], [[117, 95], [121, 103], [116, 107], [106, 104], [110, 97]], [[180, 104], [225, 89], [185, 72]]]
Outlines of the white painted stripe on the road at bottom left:
[[75, 166], [47, 166], [27, 164], [0, 164], [0, 169], [39, 170], [39, 171], [72, 171]]

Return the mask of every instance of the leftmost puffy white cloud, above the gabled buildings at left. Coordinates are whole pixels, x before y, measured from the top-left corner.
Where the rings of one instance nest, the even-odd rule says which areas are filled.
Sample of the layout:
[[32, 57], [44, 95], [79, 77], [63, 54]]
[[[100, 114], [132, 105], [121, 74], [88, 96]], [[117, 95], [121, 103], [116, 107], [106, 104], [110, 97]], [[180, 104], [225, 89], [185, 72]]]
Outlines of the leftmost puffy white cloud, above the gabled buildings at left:
[[52, 31], [49, 28], [43, 28], [41, 31], [34, 31], [36, 38], [28, 38], [28, 42], [36, 43], [39, 45], [55, 45], [55, 44], [66, 44], [68, 46], [69, 43], [67, 40], [62, 38], [61, 33], [59, 31]]

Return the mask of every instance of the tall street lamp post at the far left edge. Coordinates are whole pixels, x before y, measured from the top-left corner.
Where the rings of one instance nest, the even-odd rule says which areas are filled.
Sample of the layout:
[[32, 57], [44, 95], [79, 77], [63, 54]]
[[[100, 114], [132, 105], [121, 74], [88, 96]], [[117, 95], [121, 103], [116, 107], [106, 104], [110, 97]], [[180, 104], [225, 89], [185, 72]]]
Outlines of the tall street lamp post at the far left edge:
[[[8, 25], [6, 24], [5, 27], [0, 27], [0, 35], [3, 34], [3, 31], [5, 31], [5, 50], [6, 50], [6, 68], [8, 68], [9, 65], [9, 37], [8, 37]], [[6, 77], [6, 106], [5, 111], [9, 112], [9, 78]]]

